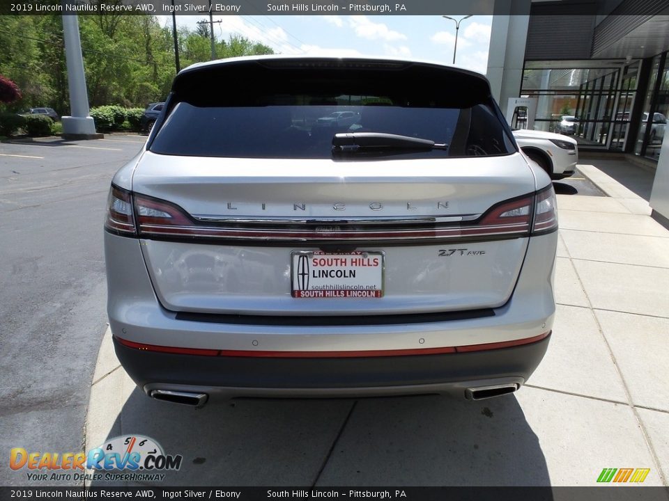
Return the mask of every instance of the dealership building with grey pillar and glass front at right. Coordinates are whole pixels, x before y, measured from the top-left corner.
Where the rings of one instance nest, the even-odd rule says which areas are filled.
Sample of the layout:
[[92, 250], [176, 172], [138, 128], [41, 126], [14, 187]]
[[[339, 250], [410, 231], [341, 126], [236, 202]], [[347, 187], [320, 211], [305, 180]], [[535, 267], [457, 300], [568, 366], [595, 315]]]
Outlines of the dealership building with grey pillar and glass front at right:
[[529, 98], [533, 128], [549, 132], [576, 117], [580, 150], [626, 154], [655, 169], [650, 205], [669, 218], [669, 1], [501, 3], [488, 77], [502, 110]]

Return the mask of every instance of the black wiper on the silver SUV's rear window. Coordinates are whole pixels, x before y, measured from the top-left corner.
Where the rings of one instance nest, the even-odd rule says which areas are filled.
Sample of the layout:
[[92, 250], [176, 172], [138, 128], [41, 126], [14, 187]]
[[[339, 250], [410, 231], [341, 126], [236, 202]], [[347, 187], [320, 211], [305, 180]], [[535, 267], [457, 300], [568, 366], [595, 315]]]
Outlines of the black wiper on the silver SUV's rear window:
[[341, 132], [332, 138], [332, 151], [355, 153], [374, 150], [448, 150], [447, 144], [430, 139], [386, 134], [385, 132]]

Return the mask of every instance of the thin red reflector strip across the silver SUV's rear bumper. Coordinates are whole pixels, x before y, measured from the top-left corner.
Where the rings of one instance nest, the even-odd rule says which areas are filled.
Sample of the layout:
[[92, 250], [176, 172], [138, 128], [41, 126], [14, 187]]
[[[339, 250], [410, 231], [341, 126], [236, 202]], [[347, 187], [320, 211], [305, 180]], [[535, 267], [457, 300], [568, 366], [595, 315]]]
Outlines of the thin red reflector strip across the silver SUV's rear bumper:
[[160, 353], [174, 353], [178, 355], [226, 356], [226, 357], [253, 357], [253, 358], [360, 358], [360, 357], [387, 357], [387, 356], [416, 356], [441, 355], [445, 353], [470, 353], [472, 351], [486, 351], [493, 349], [511, 348], [541, 341], [551, 332], [534, 337], [525, 337], [520, 340], [503, 341], [484, 344], [469, 344], [461, 347], [399, 349], [399, 350], [363, 350], [363, 351], [255, 351], [255, 350], [216, 350], [201, 348], [164, 347], [155, 344], [137, 343], [114, 336], [123, 346], [144, 350], [159, 351]]

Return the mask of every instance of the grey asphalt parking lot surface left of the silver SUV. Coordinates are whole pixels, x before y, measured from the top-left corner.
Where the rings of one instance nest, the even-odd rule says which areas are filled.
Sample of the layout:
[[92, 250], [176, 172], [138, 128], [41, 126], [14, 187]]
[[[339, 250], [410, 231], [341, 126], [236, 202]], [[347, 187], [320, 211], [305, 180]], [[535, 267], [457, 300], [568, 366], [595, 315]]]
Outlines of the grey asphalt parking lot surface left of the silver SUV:
[[[109, 181], [146, 138], [0, 143], [0, 445], [80, 451], [107, 321]], [[57, 483], [57, 482], [56, 482]], [[0, 461], [0, 485], [26, 484]]]

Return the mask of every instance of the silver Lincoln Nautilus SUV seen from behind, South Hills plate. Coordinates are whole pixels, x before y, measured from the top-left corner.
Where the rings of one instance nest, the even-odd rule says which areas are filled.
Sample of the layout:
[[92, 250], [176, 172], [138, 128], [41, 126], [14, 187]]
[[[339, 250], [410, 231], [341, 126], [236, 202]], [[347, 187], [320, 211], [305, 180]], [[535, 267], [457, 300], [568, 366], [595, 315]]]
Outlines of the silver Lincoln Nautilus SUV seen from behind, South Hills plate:
[[[361, 97], [364, 132], [305, 125]], [[164, 106], [104, 237], [114, 346], [146, 395], [477, 400], [528, 380], [555, 313], [555, 192], [483, 75], [230, 58], [182, 70]]]

